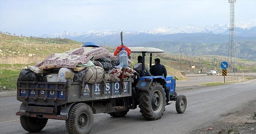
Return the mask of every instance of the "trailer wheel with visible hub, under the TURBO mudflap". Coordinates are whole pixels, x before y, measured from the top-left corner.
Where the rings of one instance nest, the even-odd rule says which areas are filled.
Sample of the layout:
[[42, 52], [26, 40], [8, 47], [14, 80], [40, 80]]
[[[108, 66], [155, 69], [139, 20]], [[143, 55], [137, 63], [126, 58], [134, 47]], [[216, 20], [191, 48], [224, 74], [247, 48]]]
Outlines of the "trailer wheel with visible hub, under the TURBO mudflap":
[[69, 134], [89, 134], [93, 120], [92, 108], [88, 104], [78, 103], [68, 113], [66, 128]]

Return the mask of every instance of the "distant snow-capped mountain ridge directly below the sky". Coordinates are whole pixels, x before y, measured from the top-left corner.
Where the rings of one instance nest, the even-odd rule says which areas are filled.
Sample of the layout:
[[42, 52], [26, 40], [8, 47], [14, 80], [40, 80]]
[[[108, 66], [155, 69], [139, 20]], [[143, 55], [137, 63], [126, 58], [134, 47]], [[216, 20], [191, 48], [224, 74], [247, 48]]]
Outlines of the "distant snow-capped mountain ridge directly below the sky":
[[[256, 28], [256, 23], [247, 26], [242, 24], [236, 24], [237, 34], [241, 36], [255, 36], [256, 31], [253, 30]], [[186, 25], [178, 28], [174, 28], [171, 26], [158, 26], [156, 28], [150, 30], [140, 30], [140, 31], [129, 31], [129, 30], [103, 30], [103, 31], [94, 31], [88, 30], [86, 32], [66, 32], [65, 33], [52, 33], [52, 34], [44, 34], [44, 35], [36, 35], [34, 37], [48, 37], [48, 38], [84, 38], [84, 37], [107, 37], [120, 35], [120, 31], [123, 31], [124, 35], [138, 35], [138, 34], [150, 34], [150, 35], [168, 35], [168, 34], [176, 34], [176, 33], [214, 33], [214, 34], [223, 34], [228, 35], [229, 33], [229, 25], [216, 24], [213, 26], [194, 26], [194, 25]]]

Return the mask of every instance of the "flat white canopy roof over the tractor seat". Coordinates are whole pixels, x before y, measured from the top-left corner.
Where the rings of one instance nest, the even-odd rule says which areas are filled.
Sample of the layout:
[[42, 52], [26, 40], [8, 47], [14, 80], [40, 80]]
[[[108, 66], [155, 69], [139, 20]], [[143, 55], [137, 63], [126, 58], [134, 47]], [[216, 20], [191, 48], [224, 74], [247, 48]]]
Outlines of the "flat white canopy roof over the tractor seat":
[[164, 50], [154, 47], [129, 47], [132, 53], [164, 53]]

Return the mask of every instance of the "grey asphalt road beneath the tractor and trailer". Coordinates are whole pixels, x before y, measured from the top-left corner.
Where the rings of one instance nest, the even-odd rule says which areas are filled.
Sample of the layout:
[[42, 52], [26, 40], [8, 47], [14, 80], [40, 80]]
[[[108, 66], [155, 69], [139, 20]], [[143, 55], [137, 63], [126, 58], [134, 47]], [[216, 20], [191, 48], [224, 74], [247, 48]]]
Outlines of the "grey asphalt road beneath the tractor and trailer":
[[[236, 111], [248, 101], [256, 99], [256, 79], [208, 88], [180, 91], [187, 97], [184, 114], [177, 114], [175, 102], [166, 106], [160, 120], [144, 120], [139, 108], [130, 110], [124, 118], [108, 114], [94, 114], [91, 134], [189, 134], [202, 126], [210, 126], [222, 116]], [[15, 116], [21, 103], [16, 97], [0, 98], [0, 133], [26, 134]], [[65, 121], [49, 120], [46, 127], [35, 134], [67, 134]]]

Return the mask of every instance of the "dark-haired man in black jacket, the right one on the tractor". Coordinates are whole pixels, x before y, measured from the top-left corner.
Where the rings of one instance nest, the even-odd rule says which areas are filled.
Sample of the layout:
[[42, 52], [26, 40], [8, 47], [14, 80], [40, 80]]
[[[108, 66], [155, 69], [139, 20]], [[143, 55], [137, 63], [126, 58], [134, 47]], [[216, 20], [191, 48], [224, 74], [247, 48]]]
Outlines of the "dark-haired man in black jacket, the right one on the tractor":
[[[154, 76], [163, 76], [164, 78], [166, 78], [167, 75], [167, 71], [166, 68], [164, 67], [164, 65], [160, 64], [160, 59], [156, 58], [155, 59], [155, 65], [152, 65], [151, 69], [150, 69], [150, 73], [151, 75]], [[167, 93], [167, 89], [165, 87], [164, 92], [166, 93], [165, 97], [166, 97], [166, 105], [170, 104], [170, 99], [168, 97], [168, 93]]]

